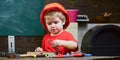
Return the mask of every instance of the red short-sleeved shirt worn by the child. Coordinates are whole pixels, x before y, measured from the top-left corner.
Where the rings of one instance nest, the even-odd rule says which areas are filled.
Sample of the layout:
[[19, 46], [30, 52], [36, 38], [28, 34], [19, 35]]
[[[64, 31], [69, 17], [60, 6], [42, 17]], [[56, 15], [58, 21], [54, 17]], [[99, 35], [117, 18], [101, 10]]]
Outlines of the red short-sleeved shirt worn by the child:
[[[63, 31], [62, 33], [60, 33], [57, 36], [50, 36], [49, 33], [47, 33], [44, 37], [43, 37], [43, 41], [42, 41], [42, 48], [43, 51], [46, 52], [56, 52], [56, 50], [51, 46], [49, 41], [54, 41], [55, 39], [59, 39], [59, 40], [66, 40], [66, 41], [75, 41], [77, 43], [77, 40], [75, 40], [75, 38], [67, 31]], [[59, 50], [60, 54], [66, 54], [71, 52], [72, 50], [65, 48], [63, 46], [59, 46], [57, 47]], [[74, 51], [77, 51], [77, 49], [75, 49]]]

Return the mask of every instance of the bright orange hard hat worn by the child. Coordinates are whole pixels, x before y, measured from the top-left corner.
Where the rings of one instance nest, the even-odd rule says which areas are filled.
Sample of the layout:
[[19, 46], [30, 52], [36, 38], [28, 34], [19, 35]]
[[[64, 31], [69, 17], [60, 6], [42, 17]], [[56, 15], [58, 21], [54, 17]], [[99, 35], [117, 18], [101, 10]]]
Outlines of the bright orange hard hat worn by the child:
[[45, 15], [45, 13], [50, 12], [50, 11], [60, 11], [65, 15], [66, 22], [65, 22], [65, 25], [63, 26], [63, 29], [66, 29], [68, 27], [68, 25], [70, 24], [70, 17], [69, 17], [68, 12], [66, 11], [66, 9], [59, 3], [47, 4], [47, 5], [45, 5], [43, 10], [41, 11], [40, 22], [42, 23], [43, 27], [46, 30], [48, 30], [47, 27], [46, 27], [45, 21], [44, 21], [44, 15]]

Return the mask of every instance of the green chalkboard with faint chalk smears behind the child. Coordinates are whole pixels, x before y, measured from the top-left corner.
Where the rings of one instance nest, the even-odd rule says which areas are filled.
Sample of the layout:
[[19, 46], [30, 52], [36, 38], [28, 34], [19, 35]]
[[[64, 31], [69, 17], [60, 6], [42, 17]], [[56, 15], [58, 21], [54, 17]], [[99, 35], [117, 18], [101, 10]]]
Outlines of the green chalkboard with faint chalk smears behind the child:
[[0, 35], [43, 35], [39, 20], [43, 7], [44, 0], [0, 0]]

